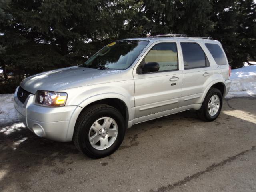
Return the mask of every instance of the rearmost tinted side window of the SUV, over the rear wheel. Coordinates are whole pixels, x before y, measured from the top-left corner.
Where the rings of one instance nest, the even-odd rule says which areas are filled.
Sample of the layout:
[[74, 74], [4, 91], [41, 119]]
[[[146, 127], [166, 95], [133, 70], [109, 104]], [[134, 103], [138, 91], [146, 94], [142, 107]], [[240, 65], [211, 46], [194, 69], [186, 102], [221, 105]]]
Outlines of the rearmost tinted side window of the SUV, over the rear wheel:
[[208, 48], [212, 57], [218, 65], [226, 65], [228, 61], [226, 60], [225, 54], [217, 44], [206, 43], [205, 46]]

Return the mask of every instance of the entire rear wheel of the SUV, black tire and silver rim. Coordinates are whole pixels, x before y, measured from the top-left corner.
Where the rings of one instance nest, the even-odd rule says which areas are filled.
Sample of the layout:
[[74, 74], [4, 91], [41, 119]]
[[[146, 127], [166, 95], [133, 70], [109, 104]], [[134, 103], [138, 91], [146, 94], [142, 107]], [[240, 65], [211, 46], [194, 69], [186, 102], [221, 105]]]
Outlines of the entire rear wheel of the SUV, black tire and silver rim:
[[197, 111], [198, 117], [203, 121], [214, 121], [222, 108], [222, 93], [217, 88], [210, 88], [204, 98], [201, 108]]

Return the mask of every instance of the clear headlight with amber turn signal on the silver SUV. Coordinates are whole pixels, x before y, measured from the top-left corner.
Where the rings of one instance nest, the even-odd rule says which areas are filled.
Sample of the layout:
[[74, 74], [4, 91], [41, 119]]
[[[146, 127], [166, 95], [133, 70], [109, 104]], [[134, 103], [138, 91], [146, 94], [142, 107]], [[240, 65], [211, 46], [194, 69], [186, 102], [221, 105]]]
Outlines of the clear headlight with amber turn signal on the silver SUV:
[[36, 92], [35, 102], [44, 106], [64, 106], [68, 94], [65, 92], [53, 92], [53, 91], [44, 91], [38, 90]]

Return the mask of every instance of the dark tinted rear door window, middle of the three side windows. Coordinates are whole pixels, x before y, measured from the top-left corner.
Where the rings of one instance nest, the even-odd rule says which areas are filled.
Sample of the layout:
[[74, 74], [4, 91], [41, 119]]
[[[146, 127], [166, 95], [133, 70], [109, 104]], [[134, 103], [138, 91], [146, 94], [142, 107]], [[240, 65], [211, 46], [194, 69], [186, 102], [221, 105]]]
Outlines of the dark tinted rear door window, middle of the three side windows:
[[180, 43], [182, 48], [184, 69], [206, 66], [206, 56], [197, 43]]

